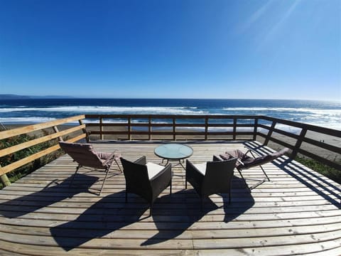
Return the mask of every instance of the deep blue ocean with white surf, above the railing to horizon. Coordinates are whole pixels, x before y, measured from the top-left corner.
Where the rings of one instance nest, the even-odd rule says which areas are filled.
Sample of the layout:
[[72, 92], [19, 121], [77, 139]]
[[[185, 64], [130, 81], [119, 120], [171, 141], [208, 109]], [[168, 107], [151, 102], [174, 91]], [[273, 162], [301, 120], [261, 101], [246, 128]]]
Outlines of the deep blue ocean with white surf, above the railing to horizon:
[[341, 130], [341, 103], [308, 100], [1, 100], [1, 124], [34, 124], [77, 114], [252, 114]]

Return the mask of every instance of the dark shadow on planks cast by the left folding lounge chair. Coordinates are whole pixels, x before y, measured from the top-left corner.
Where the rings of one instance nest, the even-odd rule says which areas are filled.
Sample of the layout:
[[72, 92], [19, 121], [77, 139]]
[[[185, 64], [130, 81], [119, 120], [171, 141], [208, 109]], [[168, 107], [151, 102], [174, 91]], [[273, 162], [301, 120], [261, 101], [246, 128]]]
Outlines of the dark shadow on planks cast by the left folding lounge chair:
[[[87, 176], [84, 174], [76, 175], [77, 179], [82, 180], [82, 186], [69, 188], [72, 176], [66, 178], [61, 183], [58, 183], [58, 180], [52, 181], [41, 191], [0, 203], [0, 215], [3, 215], [6, 218], [17, 218], [28, 213], [33, 213], [40, 208], [63, 201], [65, 198], [72, 198], [72, 196], [75, 196], [77, 193], [88, 193], [90, 186], [98, 180], [98, 178], [94, 176]], [[56, 185], [51, 186], [54, 183]], [[61, 190], [63, 190], [63, 192], [60, 192]]]

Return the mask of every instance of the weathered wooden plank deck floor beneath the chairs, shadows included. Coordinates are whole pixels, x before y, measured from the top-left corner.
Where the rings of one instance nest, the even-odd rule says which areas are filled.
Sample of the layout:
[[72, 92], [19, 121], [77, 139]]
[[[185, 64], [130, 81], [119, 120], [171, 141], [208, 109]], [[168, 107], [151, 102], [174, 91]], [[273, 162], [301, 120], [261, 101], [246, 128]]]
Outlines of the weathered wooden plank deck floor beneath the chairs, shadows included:
[[[190, 160], [244, 144], [189, 142]], [[160, 163], [156, 145], [94, 144]], [[124, 203], [124, 176], [115, 169], [101, 196], [102, 172], [81, 169], [69, 188], [75, 166], [65, 155], [0, 191], [0, 255], [341, 255], [340, 184], [286, 156], [264, 166], [271, 181], [251, 193], [236, 171], [232, 203], [213, 195], [203, 211], [191, 186], [184, 189], [184, 170], [174, 166], [173, 194], [161, 194], [150, 218], [143, 199], [129, 195]], [[244, 175], [250, 185], [263, 177], [259, 168]]]

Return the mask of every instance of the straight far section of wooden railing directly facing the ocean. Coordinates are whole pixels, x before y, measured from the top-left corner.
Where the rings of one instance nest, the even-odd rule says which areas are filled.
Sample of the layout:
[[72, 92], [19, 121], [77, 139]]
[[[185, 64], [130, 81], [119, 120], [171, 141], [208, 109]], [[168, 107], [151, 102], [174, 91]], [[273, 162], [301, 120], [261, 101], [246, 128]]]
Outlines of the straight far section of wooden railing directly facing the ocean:
[[[146, 136], [148, 140], [155, 139], [156, 135], [158, 139], [173, 140], [179, 139], [180, 136], [186, 139], [198, 139], [198, 136], [201, 136], [200, 139], [205, 140], [217, 139], [217, 136], [233, 140], [237, 137], [245, 139], [245, 136], [255, 139], [258, 119], [248, 115], [175, 114], [85, 114], [85, 118], [87, 130], [92, 135], [99, 135], [99, 139], [104, 139], [104, 135], [120, 135], [123, 136], [122, 139], [129, 140], [141, 139], [141, 135]], [[121, 129], [115, 129], [117, 127]], [[212, 129], [227, 130], [217, 132]], [[167, 135], [171, 137], [166, 137]]]

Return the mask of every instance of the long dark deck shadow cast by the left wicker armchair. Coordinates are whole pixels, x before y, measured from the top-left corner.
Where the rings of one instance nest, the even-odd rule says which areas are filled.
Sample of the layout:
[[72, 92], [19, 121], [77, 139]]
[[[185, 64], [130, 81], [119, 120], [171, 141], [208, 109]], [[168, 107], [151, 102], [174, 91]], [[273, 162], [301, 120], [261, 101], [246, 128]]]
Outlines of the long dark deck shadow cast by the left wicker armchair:
[[[50, 233], [60, 247], [65, 251], [70, 251], [94, 238], [101, 238], [115, 230], [148, 218], [148, 216], [141, 218], [149, 208], [148, 203], [136, 196], [139, 206], [131, 208], [129, 203], [124, 203], [124, 198], [125, 191], [105, 196], [87, 208], [75, 220], [50, 228]], [[131, 201], [133, 200], [131, 198]], [[134, 207], [134, 204], [131, 203], [130, 206]]]

